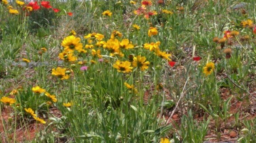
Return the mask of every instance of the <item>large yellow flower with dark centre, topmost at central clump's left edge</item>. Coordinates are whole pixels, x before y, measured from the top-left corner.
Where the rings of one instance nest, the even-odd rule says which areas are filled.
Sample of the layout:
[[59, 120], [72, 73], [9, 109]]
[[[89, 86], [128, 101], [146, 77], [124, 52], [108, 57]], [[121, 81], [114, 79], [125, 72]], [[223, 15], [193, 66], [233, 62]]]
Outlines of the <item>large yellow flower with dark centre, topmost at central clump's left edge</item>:
[[74, 35], [68, 36], [63, 39], [61, 45], [65, 48], [65, 51], [73, 52], [74, 50], [80, 51], [83, 49], [83, 44], [80, 43], [80, 38]]

